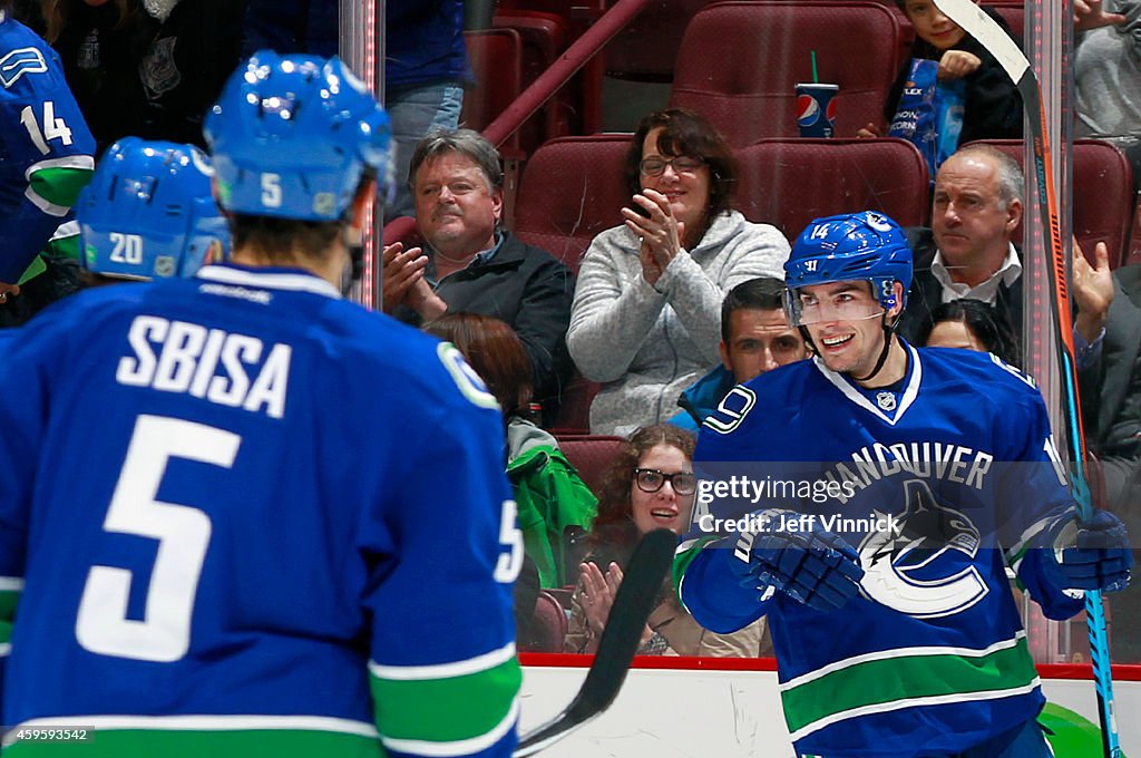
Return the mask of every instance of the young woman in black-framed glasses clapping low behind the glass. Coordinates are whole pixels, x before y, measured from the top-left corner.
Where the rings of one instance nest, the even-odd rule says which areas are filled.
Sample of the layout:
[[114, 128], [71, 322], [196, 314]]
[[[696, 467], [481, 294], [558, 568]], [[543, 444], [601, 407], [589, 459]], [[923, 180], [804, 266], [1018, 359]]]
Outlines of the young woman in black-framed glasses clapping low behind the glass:
[[[639, 429], [607, 470], [589, 554], [570, 600], [568, 653], [593, 653], [610, 614], [614, 595], [641, 535], [655, 529], [682, 533], [689, 527], [697, 479], [694, 437], [670, 424]], [[649, 615], [640, 655], [760, 654], [763, 621], [731, 635], [703, 628], [681, 607], [673, 580], [662, 584]]]

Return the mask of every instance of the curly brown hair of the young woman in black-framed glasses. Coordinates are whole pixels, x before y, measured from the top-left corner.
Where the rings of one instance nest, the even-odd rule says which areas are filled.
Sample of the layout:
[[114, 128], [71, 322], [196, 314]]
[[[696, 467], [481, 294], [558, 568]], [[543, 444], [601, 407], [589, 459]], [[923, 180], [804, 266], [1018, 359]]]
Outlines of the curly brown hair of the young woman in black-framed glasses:
[[641, 538], [634, 524], [630, 500], [630, 492], [634, 486], [634, 468], [657, 445], [677, 447], [688, 460], [693, 460], [696, 440], [689, 432], [672, 424], [642, 427], [630, 436], [602, 474], [598, 516], [586, 538], [591, 553], [607, 555], [609, 559], [625, 565], [625, 559]]

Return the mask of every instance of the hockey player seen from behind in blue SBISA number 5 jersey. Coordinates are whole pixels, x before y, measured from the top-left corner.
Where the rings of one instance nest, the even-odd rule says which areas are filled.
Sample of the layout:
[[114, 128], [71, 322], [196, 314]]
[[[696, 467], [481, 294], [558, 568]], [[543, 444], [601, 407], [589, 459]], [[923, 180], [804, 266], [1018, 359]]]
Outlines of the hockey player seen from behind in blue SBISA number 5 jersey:
[[262, 53], [207, 135], [232, 263], [89, 289], [0, 362], [3, 756], [509, 756], [499, 410], [338, 287], [385, 113]]

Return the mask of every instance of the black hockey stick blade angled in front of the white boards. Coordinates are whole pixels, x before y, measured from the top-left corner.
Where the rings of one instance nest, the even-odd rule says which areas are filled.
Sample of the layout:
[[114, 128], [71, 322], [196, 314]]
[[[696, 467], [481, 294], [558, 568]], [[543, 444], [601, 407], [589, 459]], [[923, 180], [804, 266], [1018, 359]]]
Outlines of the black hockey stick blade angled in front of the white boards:
[[638, 652], [646, 620], [654, 610], [654, 600], [673, 562], [677, 546], [678, 535], [667, 529], [654, 530], [638, 543], [626, 564], [610, 618], [606, 621], [594, 662], [582, 688], [561, 713], [519, 740], [515, 758], [533, 756], [549, 748], [614, 702]]

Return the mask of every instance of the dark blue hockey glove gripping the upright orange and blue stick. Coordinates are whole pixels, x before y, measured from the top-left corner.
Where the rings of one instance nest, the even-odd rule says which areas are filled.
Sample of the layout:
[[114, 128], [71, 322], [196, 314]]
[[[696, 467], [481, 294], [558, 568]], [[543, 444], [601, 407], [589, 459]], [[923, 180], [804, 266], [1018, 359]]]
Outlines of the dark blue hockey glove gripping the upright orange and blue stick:
[[1050, 580], [1062, 589], [1100, 589], [1116, 592], [1130, 583], [1133, 553], [1125, 525], [1106, 510], [1094, 510], [1083, 522], [1076, 509], [1059, 516], [1046, 530], [1043, 561]]

